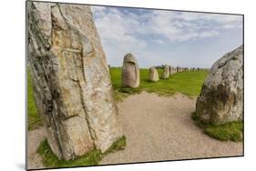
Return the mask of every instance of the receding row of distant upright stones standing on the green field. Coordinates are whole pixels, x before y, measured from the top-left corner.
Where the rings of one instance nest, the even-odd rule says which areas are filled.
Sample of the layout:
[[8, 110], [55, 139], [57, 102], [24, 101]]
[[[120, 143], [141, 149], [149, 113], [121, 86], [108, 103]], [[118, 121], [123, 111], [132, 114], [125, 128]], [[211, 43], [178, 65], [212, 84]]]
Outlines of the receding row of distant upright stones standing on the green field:
[[[161, 68], [161, 66], [158, 66]], [[148, 76], [149, 81], [157, 82], [159, 81], [159, 72], [156, 66], [149, 67]], [[181, 73], [184, 71], [202, 71], [209, 70], [208, 68], [200, 68], [200, 67], [174, 67], [171, 65], [163, 65], [163, 79], [168, 79], [169, 76], [175, 75], [176, 73]], [[130, 53], [125, 55], [124, 62], [122, 66], [122, 86], [123, 87], [138, 87], [139, 86], [139, 68], [138, 61], [136, 57]]]

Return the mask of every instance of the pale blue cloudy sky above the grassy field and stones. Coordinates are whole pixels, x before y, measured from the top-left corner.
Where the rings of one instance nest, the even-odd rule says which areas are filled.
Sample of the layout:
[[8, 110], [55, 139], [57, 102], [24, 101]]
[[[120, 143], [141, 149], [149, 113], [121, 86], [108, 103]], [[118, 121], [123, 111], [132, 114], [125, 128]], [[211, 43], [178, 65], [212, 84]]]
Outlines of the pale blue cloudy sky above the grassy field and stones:
[[242, 44], [242, 16], [93, 6], [108, 64], [120, 66], [127, 53], [140, 67], [210, 67]]

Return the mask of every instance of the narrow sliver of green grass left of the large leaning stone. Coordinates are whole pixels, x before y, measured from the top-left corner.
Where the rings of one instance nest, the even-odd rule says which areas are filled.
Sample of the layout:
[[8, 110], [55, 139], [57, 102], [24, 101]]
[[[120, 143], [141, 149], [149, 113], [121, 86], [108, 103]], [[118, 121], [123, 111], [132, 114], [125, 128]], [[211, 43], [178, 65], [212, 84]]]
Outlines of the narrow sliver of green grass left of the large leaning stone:
[[38, 126], [43, 126], [41, 117], [37, 113], [36, 103], [33, 96], [32, 77], [27, 70], [27, 126], [28, 130], [36, 129]]

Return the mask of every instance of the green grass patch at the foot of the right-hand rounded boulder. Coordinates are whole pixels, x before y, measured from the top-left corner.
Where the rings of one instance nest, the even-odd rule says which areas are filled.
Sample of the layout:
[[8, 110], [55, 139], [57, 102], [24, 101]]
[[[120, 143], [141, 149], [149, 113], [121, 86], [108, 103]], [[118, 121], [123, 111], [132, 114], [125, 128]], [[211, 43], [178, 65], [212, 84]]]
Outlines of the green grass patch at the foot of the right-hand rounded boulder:
[[207, 125], [200, 122], [196, 113], [192, 113], [192, 119], [194, 120], [197, 126], [200, 126], [203, 129], [203, 132], [213, 138], [219, 139], [220, 141], [234, 141], [239, 142], [242, 140], [243, 136], [243, 122], [236, 121], [230, 122], [223, 125]]

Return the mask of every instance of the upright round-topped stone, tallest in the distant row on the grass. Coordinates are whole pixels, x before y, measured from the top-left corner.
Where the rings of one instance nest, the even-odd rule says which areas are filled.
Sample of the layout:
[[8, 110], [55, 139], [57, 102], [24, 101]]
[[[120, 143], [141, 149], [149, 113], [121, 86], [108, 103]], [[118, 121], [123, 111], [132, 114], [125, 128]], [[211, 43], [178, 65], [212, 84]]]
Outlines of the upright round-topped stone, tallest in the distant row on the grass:
[[128, 53], [124, 57], [122, 67], [122, 86], [138, 87], [139, 86], [139, 68], [138, 62], [134, 55]]

